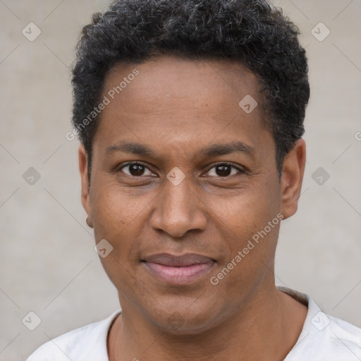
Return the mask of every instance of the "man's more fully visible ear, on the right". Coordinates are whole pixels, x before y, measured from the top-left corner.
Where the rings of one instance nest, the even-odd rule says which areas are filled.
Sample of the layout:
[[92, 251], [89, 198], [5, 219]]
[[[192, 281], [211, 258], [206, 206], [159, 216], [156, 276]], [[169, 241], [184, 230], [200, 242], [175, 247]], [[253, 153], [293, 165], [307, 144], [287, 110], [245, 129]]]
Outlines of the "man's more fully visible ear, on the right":
[[283, 160], [281, 176], [281, 204], [283, 219], [293, 216], [297, 212], [298, 199], [305, 173], [306, 143], [300, 139], [295, 142], [293, 149]]

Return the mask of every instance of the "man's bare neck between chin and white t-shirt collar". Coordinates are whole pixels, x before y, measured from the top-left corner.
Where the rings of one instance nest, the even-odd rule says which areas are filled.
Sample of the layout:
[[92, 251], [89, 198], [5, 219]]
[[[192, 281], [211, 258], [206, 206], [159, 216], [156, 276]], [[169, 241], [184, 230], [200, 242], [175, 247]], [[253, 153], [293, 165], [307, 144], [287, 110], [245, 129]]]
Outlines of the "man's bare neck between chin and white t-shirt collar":
[[307, 307], [274, 285], [257, 290], [233, 317], [200, 334], [175, 335], [149, 324], [131, 305], [122, 306], [109, 332], [111, 361], [209, 360], [209, 355], [217, 361], [283, 360], [307, 314]]

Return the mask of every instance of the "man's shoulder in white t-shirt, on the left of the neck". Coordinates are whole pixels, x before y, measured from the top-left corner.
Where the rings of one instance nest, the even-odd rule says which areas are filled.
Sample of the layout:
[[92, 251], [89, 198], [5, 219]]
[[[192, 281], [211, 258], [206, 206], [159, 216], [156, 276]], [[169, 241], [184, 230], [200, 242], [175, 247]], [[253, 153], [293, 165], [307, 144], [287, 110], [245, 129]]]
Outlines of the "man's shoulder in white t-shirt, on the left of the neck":
[[54, 338], [35, 350], [27, 361], [107, 361], [106, 338], [116, 316], [116, 311], [107, 319], [88, 324]]

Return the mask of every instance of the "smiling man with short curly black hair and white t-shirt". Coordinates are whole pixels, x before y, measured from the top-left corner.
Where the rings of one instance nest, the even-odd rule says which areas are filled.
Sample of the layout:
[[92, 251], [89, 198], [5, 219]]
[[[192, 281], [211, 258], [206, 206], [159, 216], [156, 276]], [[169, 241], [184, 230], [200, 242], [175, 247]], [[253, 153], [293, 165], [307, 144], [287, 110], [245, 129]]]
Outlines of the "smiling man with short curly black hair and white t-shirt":
[[73, 69], [82, 204], [121, 312], [35, 360], [357, 360], [361, 330], [274, 284], [305, 169], [298, 29], [264, 0], [120, 0]]

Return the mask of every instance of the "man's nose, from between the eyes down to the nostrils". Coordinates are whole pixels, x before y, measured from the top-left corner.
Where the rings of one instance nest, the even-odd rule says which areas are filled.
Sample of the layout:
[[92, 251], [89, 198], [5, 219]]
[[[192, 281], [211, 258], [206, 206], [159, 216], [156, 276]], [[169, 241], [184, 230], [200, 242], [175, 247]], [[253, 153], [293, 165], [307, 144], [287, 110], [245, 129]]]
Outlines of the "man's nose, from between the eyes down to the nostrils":
[[157, 197], [150, 226], [175, 238], [183, 237], [191, 230], [204, 230], [207, 224], [204, 204], [195, 190], [190, 189], [186, 179], [178, 185], [173, 185], [168, 180], [165, 183]]

